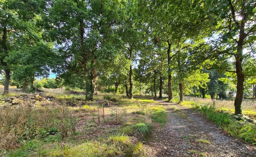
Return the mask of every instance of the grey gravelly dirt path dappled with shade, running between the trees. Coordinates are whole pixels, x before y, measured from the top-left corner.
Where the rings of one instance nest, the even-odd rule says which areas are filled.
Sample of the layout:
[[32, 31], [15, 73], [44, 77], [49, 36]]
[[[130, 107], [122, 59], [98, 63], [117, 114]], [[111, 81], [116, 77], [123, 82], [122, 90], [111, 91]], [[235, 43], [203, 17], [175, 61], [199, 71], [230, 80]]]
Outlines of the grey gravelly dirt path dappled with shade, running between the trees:
[[[256, 157], [256, 147], [229, 136], [192, 109], [157, 101], [168, 107], [168, 122], [146, 142], [149, 157]], [[178, 109], [178, 110], [177, 110]]]

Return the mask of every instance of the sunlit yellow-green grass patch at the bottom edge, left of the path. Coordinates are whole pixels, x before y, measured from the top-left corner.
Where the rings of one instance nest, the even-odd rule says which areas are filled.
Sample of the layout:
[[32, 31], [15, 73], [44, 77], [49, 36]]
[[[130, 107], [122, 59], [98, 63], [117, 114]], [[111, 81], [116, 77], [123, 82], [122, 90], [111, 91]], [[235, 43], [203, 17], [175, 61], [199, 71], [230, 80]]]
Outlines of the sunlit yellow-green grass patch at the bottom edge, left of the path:
[[48, 156], [50, 157], [142, 157], [142, 143], [132, 143], [130, 137], [125, 135], [111, 136], [108, 140], [87, 141], [75, 146], [66, 145], [64, 148], [56, 147]]

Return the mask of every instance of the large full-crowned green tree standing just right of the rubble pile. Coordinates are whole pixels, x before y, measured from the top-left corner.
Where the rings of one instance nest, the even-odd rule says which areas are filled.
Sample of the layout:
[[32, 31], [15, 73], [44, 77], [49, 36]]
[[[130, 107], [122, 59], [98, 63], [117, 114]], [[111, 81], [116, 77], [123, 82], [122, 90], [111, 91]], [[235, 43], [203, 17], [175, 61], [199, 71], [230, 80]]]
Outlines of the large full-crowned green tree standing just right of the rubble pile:
[[110, 0], [52, 0], [49, 4], [46, 25], [64, 56], [64, 64], [56, 71], [60, 77], [67, 71], [71, 75], [72, 71], [79, 74], [78, 77], [85, 79], [86, 100], [93, 100], [97, 67], [107, 65], [118, 53], [115, 49], [119, 43], [116, 28], [124, 18], [123, 3]]

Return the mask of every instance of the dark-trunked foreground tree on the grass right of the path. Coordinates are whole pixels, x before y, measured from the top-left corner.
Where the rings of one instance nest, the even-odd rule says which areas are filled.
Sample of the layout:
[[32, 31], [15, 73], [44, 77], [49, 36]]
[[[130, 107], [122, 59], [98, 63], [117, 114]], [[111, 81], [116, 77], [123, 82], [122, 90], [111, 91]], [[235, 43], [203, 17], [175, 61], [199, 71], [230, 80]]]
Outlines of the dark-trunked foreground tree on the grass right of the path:
[[[227, 51], [218, 51], [218, 55], [229, 55], [235, 59], [235, 70], [226, 69], [236, 74], [236, 97], [235, 114], [242, 114], [241, 104], [243, 99], [245, 73], [242, 68], [245, 56], [251, 53], [244, 53], [244, 49], [249, 44], [254, 43], [256, 33], [255, 7], [254, 0], [208, 0], [206, 6], [209, 7], [209, 14], [217, 15], [218, 24], [215, 30], [221, 46], [226, 47]], [[222, 69], [224, 69], [222, 67]]]

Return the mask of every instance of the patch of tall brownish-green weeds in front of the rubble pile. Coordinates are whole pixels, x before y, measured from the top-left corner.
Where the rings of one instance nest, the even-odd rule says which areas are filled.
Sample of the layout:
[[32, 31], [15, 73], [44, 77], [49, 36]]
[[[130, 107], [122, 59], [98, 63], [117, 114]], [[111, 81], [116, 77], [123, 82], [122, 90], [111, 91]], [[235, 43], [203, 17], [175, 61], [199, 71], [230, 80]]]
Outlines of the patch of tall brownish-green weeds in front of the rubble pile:
[[0, 149], [15, 148], [23, 140], [35, 138], [54, 141], [57, 139], [49, 138], [58, 138], [59, 135], [64, 137], [74, 131], [75, 119], [66, 107], [51, 106], [39, 110], [24, 104], [0, 111]]

